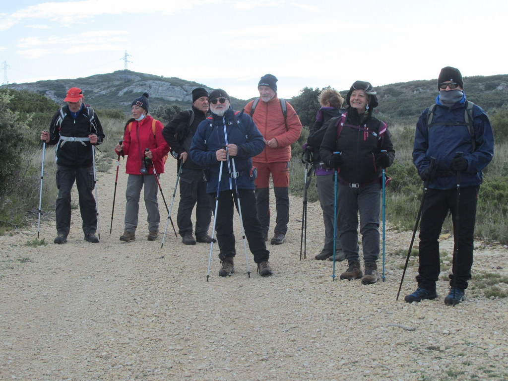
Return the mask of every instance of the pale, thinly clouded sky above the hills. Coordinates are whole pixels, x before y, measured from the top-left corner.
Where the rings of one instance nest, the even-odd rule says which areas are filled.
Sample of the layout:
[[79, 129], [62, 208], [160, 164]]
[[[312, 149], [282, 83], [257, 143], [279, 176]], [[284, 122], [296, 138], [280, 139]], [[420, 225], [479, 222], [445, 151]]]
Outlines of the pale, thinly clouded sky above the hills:
[[111, 73], [125, 51], [129, 70], [241, 99], [259, 95], [267, 73], [282, 98], [305, 86], [433, 79], [444, 66], [506, 74], [507, 16], [506, 0], [4, 1], [0, 79]]

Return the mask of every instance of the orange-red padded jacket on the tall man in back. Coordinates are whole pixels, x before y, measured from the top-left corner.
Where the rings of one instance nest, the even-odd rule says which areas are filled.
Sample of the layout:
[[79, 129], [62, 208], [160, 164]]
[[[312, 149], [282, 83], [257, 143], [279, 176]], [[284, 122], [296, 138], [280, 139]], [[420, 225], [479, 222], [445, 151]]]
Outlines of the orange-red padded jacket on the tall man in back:
[[[254, 101], [250, 101], [245, 106], [245, 113], [250, 115], [250, 109]], [[291, 160], [291, 143], [294, 143], [300, 137], [302, 132], [302, 123], [293, 106], [286, 102], [288, 108], [288, 117], [284, 122], [284, 115], [280, 106], [280, 100], [275, 97], [268, 102], [259, 100], [252, 119], [256, 123], [258, 130], [265, 140], [275, 138], [277, 148], [265, 146], [263, 152], [252, 157], [253, 162], [275, 163], [289, 162]], [[288, 125], [286, 128], [286, 124]]]

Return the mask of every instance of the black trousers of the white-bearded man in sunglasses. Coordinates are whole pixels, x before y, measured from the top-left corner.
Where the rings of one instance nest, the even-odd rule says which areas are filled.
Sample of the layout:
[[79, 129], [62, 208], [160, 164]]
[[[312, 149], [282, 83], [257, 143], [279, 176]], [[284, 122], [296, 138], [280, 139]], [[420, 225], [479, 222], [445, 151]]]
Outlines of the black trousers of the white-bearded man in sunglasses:
[[[260, 263], [268, 261], [270, 252], [266, 249], [265, 239], [261, 223], [256, 212], [256, 195], [254, 190], [239, 189], [238, 190], [240, 207], [242, 211], [242, 220], [245, 236], [249, 244], [250, 252], [254, 256], [254, 262]], [[213, 198], [213, 210], [215, 212], [215, 203], [217, 204], [217, 214], [215, 218], [215, 231], [217, 232], [217, 243], [219, 245], [219, 258], [234, 257], [235, 235], [233, 233], [233, 205], [237, 207], [236, 192], [233, 190], [225, 190], [220, 192], [218, 201]]]

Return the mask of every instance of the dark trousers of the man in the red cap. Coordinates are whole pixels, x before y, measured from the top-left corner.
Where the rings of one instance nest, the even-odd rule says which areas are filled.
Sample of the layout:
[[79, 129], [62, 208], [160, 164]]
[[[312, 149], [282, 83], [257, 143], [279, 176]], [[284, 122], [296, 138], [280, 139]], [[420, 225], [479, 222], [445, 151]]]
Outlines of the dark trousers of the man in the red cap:
[[92, 190], [93, 167], [63, 167], [56, 170], [56, 186], [58, 197], [56, 198], [56, 232], [64, 236], [69, 235], [71, 229], [71, 189], [76, 181], [79, 195], [79, 211], [83, 220], [83, 233], [95, 233], [97, 231], [97, 208]]

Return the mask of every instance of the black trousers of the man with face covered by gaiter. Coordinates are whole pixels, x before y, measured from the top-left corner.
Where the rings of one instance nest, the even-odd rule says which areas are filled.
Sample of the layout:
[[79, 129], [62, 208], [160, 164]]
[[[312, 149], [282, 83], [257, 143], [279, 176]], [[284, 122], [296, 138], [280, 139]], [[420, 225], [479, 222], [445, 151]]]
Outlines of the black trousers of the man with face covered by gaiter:
[[457, 189], [427, 190], [420, 224], [420, 266], [416, 277], [419, 287], [428, 290], [434, 290], [436, 287], [440, 272], [438, 239], [444, 218], [448, 211], [451, 211], [455, 245], [450, 285], [454, 284], [453, 278], [457, 277], [456, 287], [464, 290], [467, 288], [473, 264], [474, 224], [479, 190], [480, 186], [460, 188], [458, 225]]

